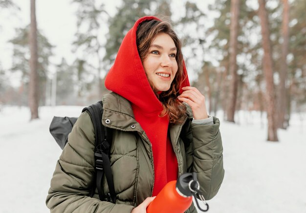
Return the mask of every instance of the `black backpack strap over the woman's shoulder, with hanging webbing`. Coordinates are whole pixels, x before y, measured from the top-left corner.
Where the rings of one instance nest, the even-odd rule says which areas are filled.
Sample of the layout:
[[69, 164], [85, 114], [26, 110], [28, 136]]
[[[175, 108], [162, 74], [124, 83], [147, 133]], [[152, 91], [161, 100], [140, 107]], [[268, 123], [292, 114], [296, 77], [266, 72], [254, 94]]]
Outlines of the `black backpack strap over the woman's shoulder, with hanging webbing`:
[[[102, 125], [102, 114], [103, 114], [103, 104], [102, 101], [88, 106], [83, 109], [83, 111], [88, 111], [93, 128], [95, 131], [95, 149], [94, 149], [94, 158], [95, 158], [95, 171], [96, 171], [96, 181], [94, 181], [92, 191], [90, 196], [92, 197], [97, 187], [100, 200], [111, 201], [112, 203], [116, 202], [116, 193], [114, 189], [113, 178], [110, 169], [109, 161], [109, 149], [111, 144], [111, 133], [110, 129]], [[106, 177], [109, 194], [104, 194], [103, 192], [103, 177]]]

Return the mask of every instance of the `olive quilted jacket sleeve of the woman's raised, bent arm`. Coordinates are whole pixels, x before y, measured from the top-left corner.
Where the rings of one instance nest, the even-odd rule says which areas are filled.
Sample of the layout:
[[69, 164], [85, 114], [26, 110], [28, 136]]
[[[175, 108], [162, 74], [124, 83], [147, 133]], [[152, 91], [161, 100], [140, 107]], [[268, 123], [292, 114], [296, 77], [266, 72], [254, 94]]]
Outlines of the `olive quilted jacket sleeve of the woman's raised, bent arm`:
[[213, 198], [223, 181], [223, 148], [219, 131], [220, 122], [213, 117], [212, 125], [198, 125], [190, 122], [185, 138], [190, 143], [185, 147], [187, 170], [197, 172], [200, 190], [206, 200]]

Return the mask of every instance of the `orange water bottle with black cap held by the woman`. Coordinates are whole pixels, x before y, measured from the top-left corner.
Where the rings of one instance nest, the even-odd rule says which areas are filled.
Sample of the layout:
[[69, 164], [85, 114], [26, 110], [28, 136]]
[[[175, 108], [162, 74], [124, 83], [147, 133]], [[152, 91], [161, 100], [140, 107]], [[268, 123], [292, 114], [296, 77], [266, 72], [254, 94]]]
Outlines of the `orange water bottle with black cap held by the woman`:
[[[196, 173], [184, 173], [178, 177], [177, 181], [166, 184], [148, 206], [147, 213], [184, 213], [191, 206], [192, 196], [195, 196], [197, 192], [199, 192], [199, 184]], [[206, 212], [208, 205], [205, 204]]]

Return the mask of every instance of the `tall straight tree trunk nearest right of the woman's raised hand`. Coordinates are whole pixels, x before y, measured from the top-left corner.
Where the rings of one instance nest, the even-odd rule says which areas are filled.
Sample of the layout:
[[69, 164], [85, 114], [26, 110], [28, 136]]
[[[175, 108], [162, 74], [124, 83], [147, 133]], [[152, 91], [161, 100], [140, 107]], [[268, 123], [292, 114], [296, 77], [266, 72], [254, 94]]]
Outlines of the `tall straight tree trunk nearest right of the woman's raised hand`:
[[231, 26], [230, 26], [230, 44], [229, 44], [229, 73], [231, 75], [229, 105], [227, 107], [227, 121], [235, 122], [235, 109], [237, 102], [237, 46], [238, 46], [238, 32], [239, 32], [239, 10], [240, 0], [231, 1]]

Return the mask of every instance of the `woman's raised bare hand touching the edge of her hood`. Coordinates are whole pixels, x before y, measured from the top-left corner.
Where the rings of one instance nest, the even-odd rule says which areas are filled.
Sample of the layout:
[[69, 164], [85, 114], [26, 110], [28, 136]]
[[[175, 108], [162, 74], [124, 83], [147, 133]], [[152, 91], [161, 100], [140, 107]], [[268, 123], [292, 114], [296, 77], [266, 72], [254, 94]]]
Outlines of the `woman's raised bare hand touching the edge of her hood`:
[[200, 120], [208, 118], [205, 97], [198, 91], [198, 89], [193, 86], [185, 86], [182, 87], [182, 90], [184, 91], [177, 98], [191, 107], [194, 119]]

